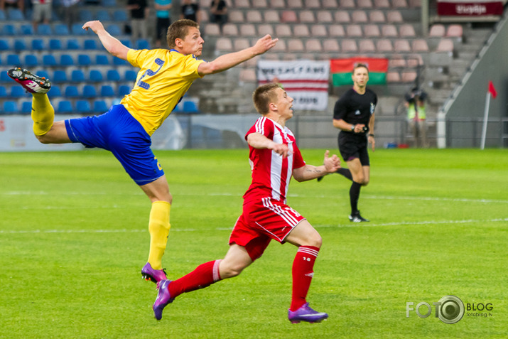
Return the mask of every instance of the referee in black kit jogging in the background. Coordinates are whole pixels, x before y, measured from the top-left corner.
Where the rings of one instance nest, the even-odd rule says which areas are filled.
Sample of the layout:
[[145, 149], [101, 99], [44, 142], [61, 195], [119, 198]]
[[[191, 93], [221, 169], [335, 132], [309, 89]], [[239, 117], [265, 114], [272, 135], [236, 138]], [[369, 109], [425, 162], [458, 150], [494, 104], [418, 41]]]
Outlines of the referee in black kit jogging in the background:
[[335, 102], [333, 109], [333, 127], [340, 129], [339, 150], [347, 163], [347, 168], [340, 168], [337, 173], [352, 181], [350, 221], [366, 222], [369, 220], [362, 217], [358, 210], [358, 198], [360, 198], [360, 188], [366, 186], [370, 179], [367, 142], [372, 145], [372, 151], [374, 151], [376, 144], [374, 109], [377, 104], [377, 95], [366, 88], [369, 81], [367, 65], [362, 63], [355, 65], [352, 80], [353, 87]]

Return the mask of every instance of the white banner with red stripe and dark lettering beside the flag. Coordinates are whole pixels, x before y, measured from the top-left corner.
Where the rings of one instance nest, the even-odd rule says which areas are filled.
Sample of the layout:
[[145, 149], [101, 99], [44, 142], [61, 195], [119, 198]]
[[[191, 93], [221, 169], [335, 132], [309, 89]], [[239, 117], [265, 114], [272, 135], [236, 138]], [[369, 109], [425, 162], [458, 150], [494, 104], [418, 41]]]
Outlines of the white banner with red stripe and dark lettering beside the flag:
[[288, 95], [295, 99], [293, 109], [328, 109], [330, 61], [259, 60], [257, 66], [259, 85], [279, 82]]

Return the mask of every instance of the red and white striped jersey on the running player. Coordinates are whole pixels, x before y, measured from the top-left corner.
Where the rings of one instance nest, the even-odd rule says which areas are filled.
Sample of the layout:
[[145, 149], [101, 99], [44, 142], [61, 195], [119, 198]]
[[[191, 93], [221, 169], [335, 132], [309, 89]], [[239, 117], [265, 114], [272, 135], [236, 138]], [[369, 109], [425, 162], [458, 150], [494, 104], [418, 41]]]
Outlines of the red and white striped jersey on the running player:
[[295, 136], [287, 127], [266, 117], [260, 117], [249, 129], [245, 139], [251, 133], [259, 133], [278, 144], [287, 144], [289, 155], [283, 158], [271, 149], [254, 149], [249, 146], [249, 163], [252, 170], [252, 183], [244, 194], [244, 201], [271, 197], [286, 203], [288, 185], [294, 168], [305, 166]]

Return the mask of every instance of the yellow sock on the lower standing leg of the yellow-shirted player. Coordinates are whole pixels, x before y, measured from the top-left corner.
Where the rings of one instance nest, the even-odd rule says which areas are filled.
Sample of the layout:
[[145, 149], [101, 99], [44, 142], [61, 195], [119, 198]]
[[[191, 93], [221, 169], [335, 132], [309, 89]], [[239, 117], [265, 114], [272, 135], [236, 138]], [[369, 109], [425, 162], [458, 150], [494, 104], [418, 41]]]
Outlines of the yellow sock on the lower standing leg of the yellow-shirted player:
[[166, 201], [156, 201], [152, 203], [150, 211], [150, 221], [148, 222], [148, 231], [150, 232], [150, 253], [148, 262], [153, 269], [162, 269], [162, 256], [168, 243], [169, 212], [171, 204]]

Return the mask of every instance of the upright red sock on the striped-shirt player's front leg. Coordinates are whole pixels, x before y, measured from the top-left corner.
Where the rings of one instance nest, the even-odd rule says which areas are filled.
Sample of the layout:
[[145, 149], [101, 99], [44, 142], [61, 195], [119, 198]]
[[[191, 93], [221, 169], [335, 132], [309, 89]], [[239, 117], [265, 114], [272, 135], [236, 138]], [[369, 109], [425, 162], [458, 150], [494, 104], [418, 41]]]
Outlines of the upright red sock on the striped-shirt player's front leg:
[[296, 311], [306, 303], [306, 296], [310, 281], [314, 275], [314, 262], [318, 257], [319, 247], [298, 247], [293, 261], [293, 296], [291, 297], [291, 311]]

